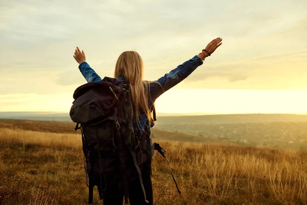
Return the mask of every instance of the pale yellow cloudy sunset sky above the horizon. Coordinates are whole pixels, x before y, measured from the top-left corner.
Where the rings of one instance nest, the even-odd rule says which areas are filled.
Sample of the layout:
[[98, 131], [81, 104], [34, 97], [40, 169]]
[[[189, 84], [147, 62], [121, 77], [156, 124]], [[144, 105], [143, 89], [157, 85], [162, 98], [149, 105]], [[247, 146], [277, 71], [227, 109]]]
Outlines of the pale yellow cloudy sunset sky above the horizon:
[[164, 113], [307, 113], [307, 1], [0, 1], [0, 112], [69, 112], [86, 83], [78, 46], [101, 76], [120, 53], [156, 80], [223, 44], [157, 99]]

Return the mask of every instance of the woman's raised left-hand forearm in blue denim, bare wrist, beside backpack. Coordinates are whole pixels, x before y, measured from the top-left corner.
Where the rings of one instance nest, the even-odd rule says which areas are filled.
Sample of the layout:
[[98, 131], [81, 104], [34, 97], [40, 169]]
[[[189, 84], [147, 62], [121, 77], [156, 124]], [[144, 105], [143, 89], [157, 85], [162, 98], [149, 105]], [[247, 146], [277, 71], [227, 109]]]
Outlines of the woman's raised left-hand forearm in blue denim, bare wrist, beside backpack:
[[85, 61], [85, 53], [82, 52], [77, 47], [75, 50], [74, 58], [76, 59], [77, 63], [79, 64], [79, 70], [82, 73], [83, 77], [86, 79], [87, 83], [100, 81], [100, 76], [90, 67], [89, 64]]

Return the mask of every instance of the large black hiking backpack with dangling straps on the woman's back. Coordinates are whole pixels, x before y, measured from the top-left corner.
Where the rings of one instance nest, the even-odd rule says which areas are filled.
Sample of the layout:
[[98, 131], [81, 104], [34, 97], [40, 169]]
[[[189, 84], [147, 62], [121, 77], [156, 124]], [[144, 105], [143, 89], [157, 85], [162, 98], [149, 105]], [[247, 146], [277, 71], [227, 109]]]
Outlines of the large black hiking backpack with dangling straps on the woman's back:
[[136, 178], [140, 180], [146, 201], [140, 170], [142, 163], [151, 162], [155, 149], [165, 157], [159, 144], [152, 144], [148, 132], [134, 132], [134, 110], [128, 88], [125, 81], [104, 77], [74, 92], [70, 116], [77, 123], [75, 130], [80, 129], [82, 133], [89, 203], [93, 202], [94, 186], [103, 199], [108, 186], [106, 179], [114, 177], [114, 173], [120, 173], [125, 203], [128, 202], [128, 184]]

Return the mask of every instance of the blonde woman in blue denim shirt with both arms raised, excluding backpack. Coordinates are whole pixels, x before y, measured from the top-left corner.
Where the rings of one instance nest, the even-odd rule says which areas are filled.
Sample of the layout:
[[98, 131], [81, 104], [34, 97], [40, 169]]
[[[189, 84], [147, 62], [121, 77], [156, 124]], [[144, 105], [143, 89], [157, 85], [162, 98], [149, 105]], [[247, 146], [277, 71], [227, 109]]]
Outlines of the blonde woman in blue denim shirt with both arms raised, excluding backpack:
[[[189, 76], [197, 67], [203, 64], [203, 60], [210, 56], [217, 47], [222, 45], [222, 38], [213, 39], [205, 49], [198, 55], [185, 61], [176, 69], [159, 78], [157, 81], [143, 80], [143, 61], [136, 51], [125, 51], [120, 54], [115, 66], [114, 78], [120, 81], [125, 80], [129, 84], [131, 98], [134, 104], [135, 118], [133, 121], [135, 133], [142, 134], [148, 132], [150, 135], [150, 126], [146, 122], [152, 122], [150, 110], [155, 100], [165, 91], [176, 86], [183, 79]], [[77, 47], [74, 58], [79, 63], [79, 70], [88, 83], [100, 81], [100, 76], [85, 61], [85, 54]], [[151, 125], [152, 127], [153, 125]], [[146, 192], [146, 199], [142, 197], [142, 188], [138, 181], [129, 185], [129, 200], [131, 204], [153, 204], [152, 185], [150, 178], [150, 163], [144, 163], [142, 167], [143, 186]], [[107, 190], [106, 190], [107, 191]], [[116, 192], [116, 193], [115, 193]], [[117, 191], [110, 190], [105, 194], [104, 204], [122, 204], [123, 193], [118, 188]]]

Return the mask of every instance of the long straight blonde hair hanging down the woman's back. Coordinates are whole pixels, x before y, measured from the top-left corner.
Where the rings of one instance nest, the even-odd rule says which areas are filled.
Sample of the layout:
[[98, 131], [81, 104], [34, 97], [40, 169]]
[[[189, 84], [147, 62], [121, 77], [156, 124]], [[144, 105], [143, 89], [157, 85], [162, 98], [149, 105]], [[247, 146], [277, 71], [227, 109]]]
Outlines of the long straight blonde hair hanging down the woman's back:
[[140, 110], [143, 111], [149, 121], [152, 121], [152, 116], [148, 107], [150, 83], [143, 80], [143, 60], [139, 53], [136, 51], [125, 51], [119, 55], [115, 65], [114, 77], [118, 78], [120, 76], [124, 77], [127, 83], [129, 83], [135, 116], [140, 128]]

